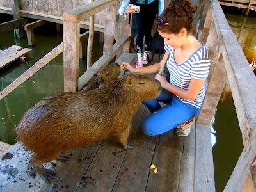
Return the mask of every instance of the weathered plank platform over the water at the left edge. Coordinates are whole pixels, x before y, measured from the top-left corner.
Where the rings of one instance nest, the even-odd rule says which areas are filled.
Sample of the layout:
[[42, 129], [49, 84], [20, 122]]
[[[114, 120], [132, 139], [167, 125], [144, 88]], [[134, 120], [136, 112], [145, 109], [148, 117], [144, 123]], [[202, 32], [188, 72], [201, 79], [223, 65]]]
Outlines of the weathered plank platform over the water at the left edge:
[[3, 68], [9, 63], [12, 63], [12, 61], [19, 59], [21, 56], [31, 50], [32, 49], [12, 45], [12, 47], [9, 47], [4, 51], [0, 51], [0, 68]]

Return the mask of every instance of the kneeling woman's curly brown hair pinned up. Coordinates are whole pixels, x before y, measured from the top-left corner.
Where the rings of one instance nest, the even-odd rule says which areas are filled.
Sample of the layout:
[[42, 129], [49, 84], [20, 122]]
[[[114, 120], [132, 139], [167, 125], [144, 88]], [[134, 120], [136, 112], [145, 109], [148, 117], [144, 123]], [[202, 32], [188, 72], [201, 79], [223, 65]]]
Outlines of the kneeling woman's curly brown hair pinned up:
[[193, 13], [196, 12], [196, 8], [190, 0], [171, 0], [160, 15], [164, 25], [158, 25], [158, 30], [167, 33], [179, 33], [182, 28], [186, 28], [188, 33], [191, 33], [193, 30]]

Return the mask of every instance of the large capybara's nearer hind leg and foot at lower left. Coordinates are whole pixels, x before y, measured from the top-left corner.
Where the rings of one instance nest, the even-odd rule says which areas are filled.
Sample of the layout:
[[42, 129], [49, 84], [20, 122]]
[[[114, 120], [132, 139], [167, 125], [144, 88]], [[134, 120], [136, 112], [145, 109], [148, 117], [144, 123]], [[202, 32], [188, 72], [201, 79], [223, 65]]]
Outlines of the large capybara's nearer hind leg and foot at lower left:
[[45, 181], [49, 182], [49, 179], [58, 179], [56, 176], [56, 170], [46, 169], [42, 164], [51, 161], [51, 159], [47, 160], [45, 158], [40, 158], [36, 154], [33, 154], [31, 157], [31, 163], [33, 164], [33, 168], [29, 172], [31, 177], [35, 177], [36, 172], [38, 175]]

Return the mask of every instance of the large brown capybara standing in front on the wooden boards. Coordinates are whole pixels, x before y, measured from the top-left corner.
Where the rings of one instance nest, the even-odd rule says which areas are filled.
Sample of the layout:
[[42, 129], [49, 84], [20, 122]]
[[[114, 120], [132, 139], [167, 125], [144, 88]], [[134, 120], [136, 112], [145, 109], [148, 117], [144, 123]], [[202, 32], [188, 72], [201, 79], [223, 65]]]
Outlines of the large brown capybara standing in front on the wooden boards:
[[29, 109], [17, 126], [17, 138], [31, 152], [31, 162], [46, 180], [55, 170], [43, 163], [86, 144], [117, 136], [126, 150], [132, 116], [141, 102], [157, 97], [156, 79], [129, 74], [88, 92], [45, 97]]

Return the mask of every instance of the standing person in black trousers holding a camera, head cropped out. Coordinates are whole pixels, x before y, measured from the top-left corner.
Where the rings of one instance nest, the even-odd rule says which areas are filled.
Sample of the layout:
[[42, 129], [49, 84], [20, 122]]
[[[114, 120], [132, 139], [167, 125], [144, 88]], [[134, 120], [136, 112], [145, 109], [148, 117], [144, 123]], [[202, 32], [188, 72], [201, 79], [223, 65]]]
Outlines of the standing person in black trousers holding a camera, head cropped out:
[[[135, 13], [132, 5], [140, 6], [140, 12]], [[136, 68], [143, 67], [148, 63], [148, 46], [152, 40], [151, 29], [156, 19], [156, 15], [160, 15], [164, 9], [164, 0], [123, 0], [118, 10], [120, 15], [134, 13], [136, 25], [138, 26], [137, 35], [137, 61]], [[145, 36], [145, 49], [143, 52], [143, 40]], [[142, 54], [143, 52], [143, 54]]]

